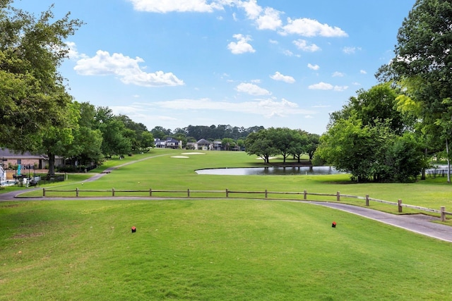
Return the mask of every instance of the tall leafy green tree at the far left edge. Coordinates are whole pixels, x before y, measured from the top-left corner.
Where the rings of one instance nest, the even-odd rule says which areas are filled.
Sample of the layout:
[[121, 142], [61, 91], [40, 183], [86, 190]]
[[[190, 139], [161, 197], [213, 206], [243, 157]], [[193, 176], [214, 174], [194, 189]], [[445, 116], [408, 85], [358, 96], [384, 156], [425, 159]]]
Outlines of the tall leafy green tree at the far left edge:
[[0, 145], [35, 151], [44, 130], [65, 123], [71, 97], [58, 68], [82, 23], [69, 13], [55, 20], [52, 7], [35, 18], [12, 3], [0, 0]]

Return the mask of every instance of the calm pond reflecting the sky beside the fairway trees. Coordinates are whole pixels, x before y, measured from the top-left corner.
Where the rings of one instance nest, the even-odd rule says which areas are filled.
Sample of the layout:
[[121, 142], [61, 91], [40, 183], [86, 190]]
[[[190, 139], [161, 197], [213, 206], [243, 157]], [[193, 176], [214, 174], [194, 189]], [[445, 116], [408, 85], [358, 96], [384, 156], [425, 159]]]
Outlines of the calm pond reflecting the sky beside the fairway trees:
[[243, 168], [212, 168], [198, 169], [200, 175], [220, 176], [303, 176], [303, 175], [332, 175], [341, 173], [331, 166], [290, 166], [290, 167], [243, 167]]

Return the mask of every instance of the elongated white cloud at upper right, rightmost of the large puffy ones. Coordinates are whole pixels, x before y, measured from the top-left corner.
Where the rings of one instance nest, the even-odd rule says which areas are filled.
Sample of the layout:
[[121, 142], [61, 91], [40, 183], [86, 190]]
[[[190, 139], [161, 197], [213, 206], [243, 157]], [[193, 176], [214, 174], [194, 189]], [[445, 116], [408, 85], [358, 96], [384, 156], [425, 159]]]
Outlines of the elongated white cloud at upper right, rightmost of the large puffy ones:
[[318, 20], [299, 18], [292, 20], [287, 18], [287, 25], [283, 26], [280, 35], [302, 35], [303, 37], [348, 37], [347, 32], [339, 27], [331, 27], [321, 24]]

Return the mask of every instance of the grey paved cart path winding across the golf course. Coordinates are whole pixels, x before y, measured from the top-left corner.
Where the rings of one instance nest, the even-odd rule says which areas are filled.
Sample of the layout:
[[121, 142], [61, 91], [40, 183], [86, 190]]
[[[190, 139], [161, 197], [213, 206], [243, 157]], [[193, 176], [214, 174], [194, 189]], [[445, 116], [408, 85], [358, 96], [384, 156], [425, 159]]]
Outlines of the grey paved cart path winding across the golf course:
[[[160, 155], [162, 156], [162, 155]], [[165, 155], [164, 155], [165, 156]], [[142, 160], [152, 159], [156, 156], [151, 156]], [[137, 161], [142, 161], [137, 160]], [[94, 176], [83, 182], [91, 182], [93, 180], [97, 180], [98, 178], [107, 175], [114, 171], [114, 169], [119, 168], [121, 166], [125, 166], [127, 164], [136, 163], [137, 161], [127, 162], [126, 164], [121, 164], [119, 166], [115, 166], [112, 168], [108, 168], [102, 173], [97, 173]], [[20, 194], [23, 192], [28, 192], [32, 190], [40, 190], [41, 188], [29, 188], [27, 190], [18, 190], [13, 192], [6, 192], [0, 194], [0, 202], [7, 201], [19, 201], [19, 200], [73, 200], [74, 197], [20, 197]], [[112, 199], [112, 197], [79, 197], [78, 199]], [[121, 197], [121, 199], [149, 199], [149, 200], [157, 200], [157, 199], [190, 199], [190, 198], [162, 198], [162, 197]], [[203, 198], [204, 199], [204, 198]], [[268, 199], [267, 199], [268, 200]], [[281, 201], [278, 199], [278, 201]], [[298, 202], [298, 201], [297, 201]], [[403, 228], [407, 231], [411, 231], [414, 233], [418, 233], [421, 235], [426, 235], [431, 238], [436, 238], [438, 240], [444, 240], [446, 242], [452, 242], [452, 227], [446, 226], [441, 223], [435, 223], [434, 221], [439, 221], [439, 218], [434, 216], [428, 216], [425, 214], [388, 214], [386, 212], [376, 211], [374, 209], [369, 209], [365, 207], [357, 207], [350, 204], [343, 204], [338, 202], [314, 202], [314, 201], [302, 201], [309, 204], [314, 204], [316, 206], [329, 207], [337, 210], [346, 211], [350, 214], [356, 214], [358, 216], [365, 217], [367, 219], [373, 219], [374, 221], [379, 221], [381, 223], [386, 223], [391, 226], [395, 226], [398, 228]]]

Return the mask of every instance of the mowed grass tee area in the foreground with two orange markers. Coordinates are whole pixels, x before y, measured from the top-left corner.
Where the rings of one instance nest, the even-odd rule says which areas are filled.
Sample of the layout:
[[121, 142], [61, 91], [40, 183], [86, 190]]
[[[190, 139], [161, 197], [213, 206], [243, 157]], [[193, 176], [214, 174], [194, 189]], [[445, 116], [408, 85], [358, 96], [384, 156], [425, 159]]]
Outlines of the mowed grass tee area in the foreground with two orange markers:
[[1, 300], [452, 299], [451, 244], [312, 204], [4, 202], [0, 215]]

